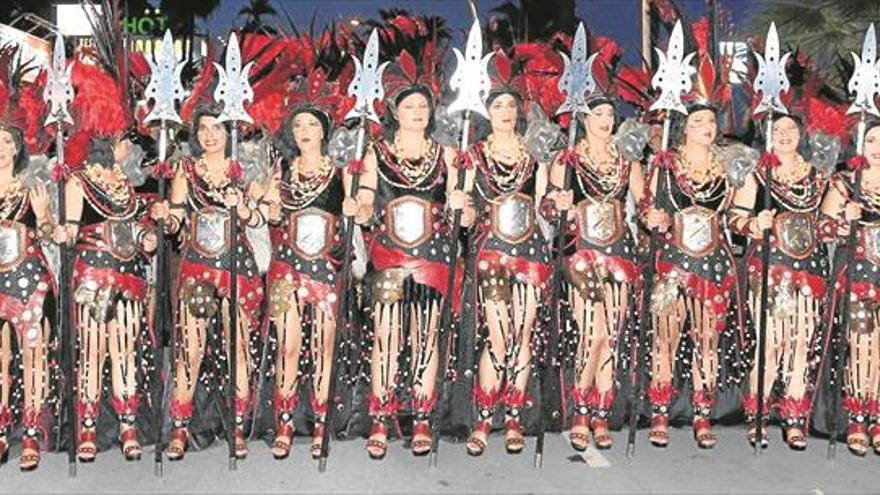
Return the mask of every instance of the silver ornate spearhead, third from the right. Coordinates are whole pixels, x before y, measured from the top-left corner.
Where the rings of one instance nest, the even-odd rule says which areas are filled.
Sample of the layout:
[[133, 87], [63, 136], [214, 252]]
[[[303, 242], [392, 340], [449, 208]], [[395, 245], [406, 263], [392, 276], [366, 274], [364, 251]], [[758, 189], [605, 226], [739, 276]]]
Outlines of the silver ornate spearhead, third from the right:
[[651, 105], [650, 110], [674, 110], [686, 115], [687, 107], [681, 101], [681, 95], [691, 90], [693, 84], [691, 76], [697, 70], [691, 65], [691, 59], [696, 53], [684, 55], [681, 21], [677, 21], [672, 29], [666, 53], [657, 47], [654, 47], [654, 50], [660, 63], [651, 79], [651, 86], [660, 90], [660, 97]]

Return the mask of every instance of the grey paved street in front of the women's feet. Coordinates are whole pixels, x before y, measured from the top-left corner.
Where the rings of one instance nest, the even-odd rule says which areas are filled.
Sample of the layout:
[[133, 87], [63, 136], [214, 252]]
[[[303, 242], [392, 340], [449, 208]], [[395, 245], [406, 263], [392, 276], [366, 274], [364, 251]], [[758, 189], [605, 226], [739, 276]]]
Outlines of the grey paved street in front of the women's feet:
[[[481, 458], [470, 458], [464, 446], [444, 443], [439, 468], [427, 458], [414, 458], [392, 443], [382, 462], [368, 459], [360, 440], [334, 444], [327, 472], [319, 474], [308, 458], [306, 438], [298, 438], [291, 457], [271, 458], [262, 443], [253, 443], [247, 460], [227, 471], [225, 446], [191, 453], [182, 463], [166, 463], [165, 476], [153, 476], [152, 457], [126, 463], [118, 452], [99, 455], [80, 465], [76, 479], [67, 477], [66, 457], [45, 456], [39, 471], [21, 473], [17, 459], [0, 468], [0, 493], [878, 493], [880, 457], [855, 458], [840, 445], [837, 459], [826, 460], [824, 440], [812, 439], [805, 452], [791, 452], [779, 430], [771, 445], [756, 457], [739, 427], [719, 429], [719, 444], [700, 451], [690, 431], [672, 432], [670, 446], [648, 445], [642, 431], [633, 461], [625, 457], [625, 437], [601, 454], [575, 454], [566, 438], [550, 435], [543, 469], [532, 467], [534, 441], [519, 456], [503, 452], [503, 438], [493, 436]], [[17, 454], [13, 452], [13, 454]]]

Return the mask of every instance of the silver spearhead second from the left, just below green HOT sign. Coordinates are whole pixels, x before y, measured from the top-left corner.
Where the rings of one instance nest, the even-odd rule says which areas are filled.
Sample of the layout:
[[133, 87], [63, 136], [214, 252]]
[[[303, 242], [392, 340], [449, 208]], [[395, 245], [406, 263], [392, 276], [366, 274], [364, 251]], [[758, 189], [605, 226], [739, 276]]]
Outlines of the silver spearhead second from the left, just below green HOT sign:
[[147, 57], [147, 62], [150, 64], [150, 82], [147, 84], [145, 95], [148, 100], [153, 100], [154, 105], [144, 122], [164, 120], [181, 124], [176, 102], [186, 96], [183, 83], [180, 81], [180, 73], [186, 66], [186, 60], [177, 61], [171, 30], [165, 31], [162, 48], [153, 57]]

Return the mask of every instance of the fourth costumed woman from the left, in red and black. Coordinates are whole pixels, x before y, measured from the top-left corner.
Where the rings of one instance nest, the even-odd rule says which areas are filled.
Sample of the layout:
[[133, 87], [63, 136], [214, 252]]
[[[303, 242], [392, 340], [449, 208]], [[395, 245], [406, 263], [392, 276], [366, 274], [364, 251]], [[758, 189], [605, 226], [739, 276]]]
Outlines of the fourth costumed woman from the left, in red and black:
[[293, 442], [299, 387], [311, 387], [314, 429], [310, 452], [321, 454], [324, 435], [342, 264], [342, 201], [349, 180], [327, 155], [333, 128], [346, 114], [340, 81], [311, 70], [287, 106], [280, 130], [284, 158], [275, 168], [267, 196], [272, 225], [268, 274], [269, 318], [277, 339], [272, 454], [287, 457]]

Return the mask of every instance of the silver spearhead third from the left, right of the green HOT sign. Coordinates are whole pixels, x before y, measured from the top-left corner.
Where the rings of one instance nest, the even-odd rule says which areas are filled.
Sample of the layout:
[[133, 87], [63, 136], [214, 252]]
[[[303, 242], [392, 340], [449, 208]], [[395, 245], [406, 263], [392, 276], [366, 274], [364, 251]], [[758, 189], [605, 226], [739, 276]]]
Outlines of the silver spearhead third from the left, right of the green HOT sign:
[[226, 48], [226, 67], [214, 62], [220, 80], [217, 89], [214, 90], [214, 99], [223, 102], [223, 111], [217, 120], [220, 122], [247, 122], [252, 124], [254, 120], [244, 108], [245, 101], [252, 101], [254, 90], [248, 81], [248, 73], [254, 63], [250, 62], [242, 68], [241, 50], [238, 48], [238, 37], [235, 33], [229, 35], [229, 46]]

